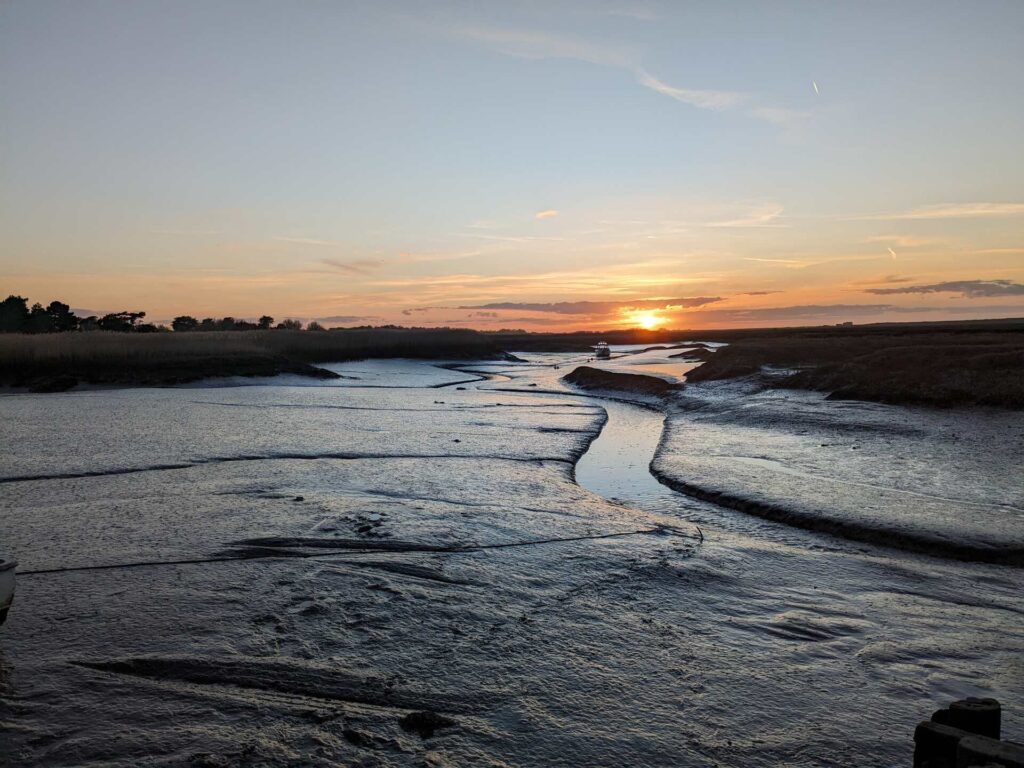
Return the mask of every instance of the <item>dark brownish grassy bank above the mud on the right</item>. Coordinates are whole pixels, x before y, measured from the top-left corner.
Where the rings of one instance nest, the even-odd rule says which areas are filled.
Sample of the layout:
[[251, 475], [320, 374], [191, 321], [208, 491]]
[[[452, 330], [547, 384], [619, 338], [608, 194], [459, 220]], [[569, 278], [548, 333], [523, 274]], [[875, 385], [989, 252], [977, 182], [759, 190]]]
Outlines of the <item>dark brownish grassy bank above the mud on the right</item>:
[[821, 333], [745, 338], [714, 353], [688, 381], [762, 374], [775, 386], [838, 399], [1024, 409], [1024, 332]]

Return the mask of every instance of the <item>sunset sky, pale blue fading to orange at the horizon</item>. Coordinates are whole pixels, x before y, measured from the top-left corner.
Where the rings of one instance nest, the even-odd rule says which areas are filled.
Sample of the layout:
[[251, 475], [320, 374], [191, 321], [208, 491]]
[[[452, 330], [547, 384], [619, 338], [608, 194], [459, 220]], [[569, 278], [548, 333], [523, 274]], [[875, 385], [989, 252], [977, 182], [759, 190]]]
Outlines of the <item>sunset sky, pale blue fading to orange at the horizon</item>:
[[6, 0], [0, 293], [530, 331], [1024, 316], [1024, 3]]

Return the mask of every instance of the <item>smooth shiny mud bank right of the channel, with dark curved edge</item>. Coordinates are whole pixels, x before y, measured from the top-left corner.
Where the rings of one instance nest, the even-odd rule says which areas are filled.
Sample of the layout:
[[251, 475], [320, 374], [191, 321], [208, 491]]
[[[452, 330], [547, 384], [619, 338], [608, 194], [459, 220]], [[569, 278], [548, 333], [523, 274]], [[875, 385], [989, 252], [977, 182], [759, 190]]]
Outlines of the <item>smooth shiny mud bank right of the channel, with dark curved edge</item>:
[[738, 384], [688, 385], [668, 413], [651, 472], [681, 494], [851, 541], [1024, 566], [1022, 416]]

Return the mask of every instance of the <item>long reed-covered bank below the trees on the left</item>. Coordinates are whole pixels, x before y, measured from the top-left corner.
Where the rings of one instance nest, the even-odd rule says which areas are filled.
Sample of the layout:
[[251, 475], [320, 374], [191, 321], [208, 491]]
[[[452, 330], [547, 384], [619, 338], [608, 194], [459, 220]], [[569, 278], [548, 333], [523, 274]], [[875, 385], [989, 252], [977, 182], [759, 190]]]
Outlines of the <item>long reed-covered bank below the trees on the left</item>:
[[364, 357], [494, 358], [474, 331], [356, 329], [0, 335], [0, 384], [59, 391], [77, 383], [177, 384], [218, 376], [334, 374], [310, 364]]

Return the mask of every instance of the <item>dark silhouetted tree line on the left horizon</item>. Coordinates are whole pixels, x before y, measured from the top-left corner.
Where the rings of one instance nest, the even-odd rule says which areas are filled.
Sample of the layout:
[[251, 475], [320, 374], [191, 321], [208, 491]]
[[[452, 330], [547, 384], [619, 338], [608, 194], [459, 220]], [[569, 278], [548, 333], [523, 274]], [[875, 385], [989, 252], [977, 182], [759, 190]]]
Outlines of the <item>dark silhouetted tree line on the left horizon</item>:
[[[2, 294], [0, 294], [2, 295]], [[285, 319], [274, 325], [273, 317], [264, 314], [256, 323], [234, 317], [204, 317], [197, 319], [188, 314], [182, 314], [171, 322], [171, 327], [154, 323], [144, 323], [143, 311], [111, 312], [102, 316], [89, 315], [79, 317], [68, 304], [51, 301], [46, 306], [36, 302], [29, 306], [29, 300], [24, 296], [8, 296], [0, 301], [0, 333], [51, 334], [68, 331], [117, 331], [120, 333], [162, 333], [176, 331], [267, 331], [281, 329], [286, 331], [301, 331], [302, 323], [297, 319]], [[324, 326], [315, 321], [309, 323], [307, 331], [324, 331]]]

